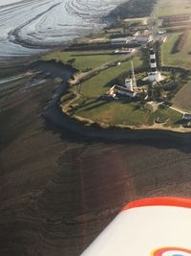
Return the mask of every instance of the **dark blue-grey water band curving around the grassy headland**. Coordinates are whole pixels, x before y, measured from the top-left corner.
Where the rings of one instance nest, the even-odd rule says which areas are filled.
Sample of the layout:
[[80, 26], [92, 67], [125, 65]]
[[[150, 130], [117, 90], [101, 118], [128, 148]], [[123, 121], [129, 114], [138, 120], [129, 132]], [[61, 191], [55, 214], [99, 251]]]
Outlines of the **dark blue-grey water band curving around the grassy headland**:
[[[43, 63], [43, 61], [40, 61]], [[36, 68], [38, 62], [33, 62], [32, 65]], [[60, 63], [53, 63], [51, 61], [50, 65], [59, 65]], [[72, 66], [60, 64], [65, 66], [65, 70], [70, 72], [70, 78], [74, 76], [74, 68]], [[182, 139], [191, 139], [191, 132], [180, 133], [175, 130], [164, 130], [156, 128], [101, 128], [94, 122], [92, 126], [85, 126], [82, 122], [68, 116], [64, 113], [59, 105], [60, 97], [63, 96], [67, 89], [69, 88], [69, 77], [64, 79], [61, 85], [53, 93], [52, 101], [49, 105], [45, 107], [42, 111], [42, 115], [45, 120], [49, 121], [58, 128], [66, 128], [74, 133], [83, 135], [84, 137], [90, 137], [95, 139], [109, 139], [109, 140], [145, 140], [145, 139], [167, 139], [179, 141]]]

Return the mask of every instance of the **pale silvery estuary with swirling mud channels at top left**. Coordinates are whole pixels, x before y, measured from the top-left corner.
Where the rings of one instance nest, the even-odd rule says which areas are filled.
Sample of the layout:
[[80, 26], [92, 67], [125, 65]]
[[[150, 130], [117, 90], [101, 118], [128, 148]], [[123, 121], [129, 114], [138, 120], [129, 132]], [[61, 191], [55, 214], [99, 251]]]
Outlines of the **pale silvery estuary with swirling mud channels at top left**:
[[26, 56], [96, 32], [124, 1], [1, 0], [0, 56]]

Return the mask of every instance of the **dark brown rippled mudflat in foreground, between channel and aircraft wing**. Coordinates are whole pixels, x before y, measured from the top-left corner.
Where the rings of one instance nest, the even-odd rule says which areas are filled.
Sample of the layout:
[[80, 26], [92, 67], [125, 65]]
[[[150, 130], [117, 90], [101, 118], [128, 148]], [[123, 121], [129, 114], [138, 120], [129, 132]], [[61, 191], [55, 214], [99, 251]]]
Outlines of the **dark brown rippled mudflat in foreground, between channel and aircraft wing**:
[[60, 84], [32, 82], [1, 87], [1, 255], [79, 255], [128, 201], [191, 196], [189, 141], [104, 142], [57, 128], [43, 112]]

